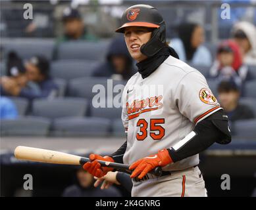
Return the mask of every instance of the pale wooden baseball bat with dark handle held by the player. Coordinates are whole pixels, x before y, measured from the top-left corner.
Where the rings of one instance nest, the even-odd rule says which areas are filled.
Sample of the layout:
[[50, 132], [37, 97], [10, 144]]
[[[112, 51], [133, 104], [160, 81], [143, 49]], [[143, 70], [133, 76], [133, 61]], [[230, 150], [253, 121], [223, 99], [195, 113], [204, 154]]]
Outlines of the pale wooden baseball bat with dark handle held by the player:
[[[80, 156], [75, 156], [72, 154], [67, 154], [64, 152], [57, 152], [53, 150], [44, 150], [40, 148], [33, 148], [28, 146], [17, 146], [14, 150], [14, 156], [17, 159], [24, 159], [28, 161], [36, 161], [41, 163], [55, 163], [55, 164], [66, 164], [66, 165], [84, 165], [90, 158], [84, 158]], [[98, 162], [103, 167], [115, 168], [118, 171], [124, 171], [126, 173], [131, 173], [129, 170], [129, 165], [122, 163], [113, 163], [109, 161]], [[162, 174], [162, 168], [156, 167], [150, 173], [155, 176], [160, 176]]]

